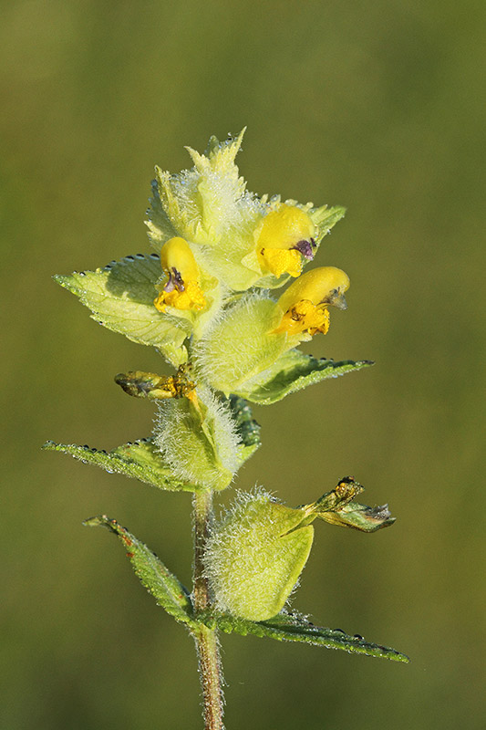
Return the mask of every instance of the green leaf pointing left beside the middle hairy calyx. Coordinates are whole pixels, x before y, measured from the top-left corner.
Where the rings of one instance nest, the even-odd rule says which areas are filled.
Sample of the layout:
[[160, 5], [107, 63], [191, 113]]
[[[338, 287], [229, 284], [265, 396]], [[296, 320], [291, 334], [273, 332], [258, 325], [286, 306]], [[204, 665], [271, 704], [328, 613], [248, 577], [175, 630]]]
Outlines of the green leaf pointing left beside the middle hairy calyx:
[[123, 443], [108, 453], [89, 448], [89, 446], [77, 446], [75, 443], [54, 443], [53, 441], [47, 441], [42, 448], [47, 451], [70, 454], [83, 464], [96, 464], [110, 474], [132, 476], [147, 485], [158, 486], [160, 489], [168, 489], [171, 492], [196, 492], [198, 488], [173, 476], [171, 467], [164, 462], [152, 439]]

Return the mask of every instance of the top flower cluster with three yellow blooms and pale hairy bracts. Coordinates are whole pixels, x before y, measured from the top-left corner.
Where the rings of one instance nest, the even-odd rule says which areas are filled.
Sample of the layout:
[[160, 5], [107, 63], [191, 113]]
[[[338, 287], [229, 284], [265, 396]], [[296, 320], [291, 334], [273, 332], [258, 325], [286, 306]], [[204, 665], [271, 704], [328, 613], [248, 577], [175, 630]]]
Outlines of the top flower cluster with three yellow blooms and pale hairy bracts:
[[165, 354], [190, 360], [196, 381], [226, 395], [326, 333], [349, 287], [334, 266], [302, 274], [344, 209], [249, 193], [234, 162], [242, 138], [212, 138], [205, 155], [189, 149], [191, 170], [157, 169], [148, 221], [161, 265], [154, 307], [186, 332], [179, 359]]

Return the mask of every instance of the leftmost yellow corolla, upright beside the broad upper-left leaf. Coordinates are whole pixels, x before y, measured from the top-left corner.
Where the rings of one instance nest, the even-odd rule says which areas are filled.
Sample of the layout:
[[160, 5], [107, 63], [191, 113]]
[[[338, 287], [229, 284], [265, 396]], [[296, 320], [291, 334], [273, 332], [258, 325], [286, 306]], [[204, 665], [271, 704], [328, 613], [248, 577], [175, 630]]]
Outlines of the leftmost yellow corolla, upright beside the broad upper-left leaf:
[[199, 267], [187, 241], [180, 237], [167, 241], [160, 251], [160, 264], [169, 276], [153, 302], [160, 312], [166, 307], [202, 309], [206, 306]]

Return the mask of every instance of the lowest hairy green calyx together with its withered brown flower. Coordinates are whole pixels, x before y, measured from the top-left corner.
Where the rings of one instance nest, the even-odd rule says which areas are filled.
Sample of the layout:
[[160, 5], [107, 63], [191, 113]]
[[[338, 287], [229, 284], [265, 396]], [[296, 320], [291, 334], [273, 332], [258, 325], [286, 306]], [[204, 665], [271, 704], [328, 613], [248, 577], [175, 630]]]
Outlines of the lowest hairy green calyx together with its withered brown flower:
[[212, 528], [205, 570], [216, 608], [235, 617], [267, 620], [279, 613], [305, 567], [316, 517], [333, 525], [375, 532], [393, 524], [387, 506], [359, 505], [363, 487], [344, 477], [311, 505], [296, 508], [263, 490], [241, 493]]

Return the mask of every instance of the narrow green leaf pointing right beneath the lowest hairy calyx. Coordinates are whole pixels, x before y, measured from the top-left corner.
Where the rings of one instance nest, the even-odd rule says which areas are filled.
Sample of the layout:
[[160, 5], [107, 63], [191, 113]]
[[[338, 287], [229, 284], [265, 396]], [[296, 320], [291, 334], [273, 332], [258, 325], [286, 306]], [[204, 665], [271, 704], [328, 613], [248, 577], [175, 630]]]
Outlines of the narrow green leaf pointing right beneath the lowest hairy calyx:
[[276, 641], [303, 641], [324, 646], [326, 649], [341, 649], [345, 652], [367, 654], [393, 662], [409, 662], [408, 656], [390, 649], [388, 646], [370, 643], [356, 634], [349, 636], [340, 629], [324, 629], [315, 626], [302, 616], [294, 613], [279, 613], [273, 619], [251, 621], [235, 619], [233, 616], [222, 613], [208, 613], [198, 617], [210, 628], [218, 627], [225, 633], [240, 633], [242, 636], [252, 633], [255, 636], [268, 637]]

